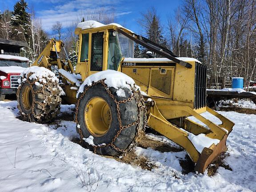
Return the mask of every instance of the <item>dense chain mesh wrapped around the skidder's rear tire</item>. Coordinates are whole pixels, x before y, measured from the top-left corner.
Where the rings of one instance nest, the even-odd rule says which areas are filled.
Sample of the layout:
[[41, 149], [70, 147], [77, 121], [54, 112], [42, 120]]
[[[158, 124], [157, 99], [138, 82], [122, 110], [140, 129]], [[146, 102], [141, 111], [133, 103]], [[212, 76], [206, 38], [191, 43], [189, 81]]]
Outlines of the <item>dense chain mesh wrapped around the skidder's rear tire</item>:
[[[40, 82], [40, 84], [43, 84], [41, 91], [39, 90], [39, 91], [36, 91], [36, 92], [35, 92], [35, 91], [33, 90], [32, 85], [35, 84], [35, 82], [39, 82], [39, 80], [34, 80], [34, 81], [32, 81], [32, 82], [29, 81], [28, 79], [29, 79], [29, 77], [30, 77], [32, 74], [33, 74], [33, 73], [28, 73], [27, 77], [24, 77], [24, 78], [26, 79], [26, 81], [24, 81], [24, 82], [27, 82], [27, 83], [29, 84], [30, 90], [31, 90], [31, 92], [32, 92], [32, 100], [33, 100], [32, 108], [31, 108], [32, 116], [33, 116], [34, 118], [36, 118], [40, 123], [45, 123], [45, 122], [48, 122], [49, 119], [52, 119], [52, 116], [51, 116], [51, 115], [52, 115], [53, 113], [55, 113], [55, 112], [57, 112], [58, 110], [60, 110], [60, 106], [58, 106], [58, 108], [56, 108], [52, 113], [48, 113], [48, 114], [47, 114], [47, 116], [49, 116], [49, 118], [47, 118], [47, 116], [44, 116], [44, 113], [41, 113], [40, 115], [36, 115], [36, 113], [34, 112], [35, 104], [41, 105], [42, 108], [43, 108], [43, 110], [44, 110], [44, 107], [47, 105], [47, 102], [45, 102], [45, 104], [42, 104], [42, 103], [36, 101], [36, 99], [35, 99], [35, 94], [36, 94], [36, 93], [42, 93], [43, 96], [45, 96], [45, 98], [51, 97], [52, 95], [46, 96], [46, 94], [44, 93], [44, 89], [45, 89], [45, 88], [46, 88], [48, 91], [50, 91], [50, 90], [48, 89], [48, 87], [49, 87], [48, 82], [46, 82], [46, 83]], [[21, 108], [20, 108], [20, 89], [21, 89], [21, 87], [22, 87], [22, 84], [24, 84], [24, 82], [22, 82], [22, 83], [20, 84], [20, 86], [17, 88], [17, 92], [16, 92], [17, 103], [18, 103], [17, 108], [20, 110], [20, 115], [22, 116], [23, 120], [26, 120], [26, 121], [28, 121], [28, 122], [34, 122], [34, 120], [31, 119], [30, 113], [29, 113], [29, 114], [24, 114], [24, 112], [22, 112], [22, 110], [21, 110]], [[55, 82], [52, 81], [52, 84], [54, 84], [54, 83], [55, 83]], [[55, 88], [58, 88], [58, 91], [59, 91], [58, 96], [60, 97], [61, 90], [60, 90], [59, 86], [55, 86]], [[22, 102], [24, 103], [24, 98], [22, 98]], [[59, 102], [61, 102], [61, 100], [60, 100]], [[45, 111], [45, 110], [44, 110], [44, 111]], [[41, 117], [42, 117], [42, 116], [44, 116], [44, 118], [45, 118], [46, 120], [41, 120]]]

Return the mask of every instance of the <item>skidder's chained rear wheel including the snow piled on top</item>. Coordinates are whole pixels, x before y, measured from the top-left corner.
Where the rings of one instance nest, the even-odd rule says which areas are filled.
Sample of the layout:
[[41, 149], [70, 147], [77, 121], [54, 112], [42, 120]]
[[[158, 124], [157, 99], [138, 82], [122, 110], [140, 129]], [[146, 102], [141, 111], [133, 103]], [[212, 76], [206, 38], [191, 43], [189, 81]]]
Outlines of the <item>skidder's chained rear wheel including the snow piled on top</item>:
[[34, 66], [27, 68], [21, 75], [23, 80], [16, 95], [23, 120], [44, 123], [56, 117], [63, 90], [55, 74], [46, 68]]

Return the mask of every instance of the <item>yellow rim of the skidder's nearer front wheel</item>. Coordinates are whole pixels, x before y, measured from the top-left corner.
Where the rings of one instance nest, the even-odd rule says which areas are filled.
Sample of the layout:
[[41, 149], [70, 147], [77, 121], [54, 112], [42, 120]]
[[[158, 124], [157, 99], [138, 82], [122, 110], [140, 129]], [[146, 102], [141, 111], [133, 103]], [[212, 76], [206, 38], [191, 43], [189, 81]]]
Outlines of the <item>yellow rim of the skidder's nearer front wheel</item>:
[[88, 101], [84, 108], [84, 123], [93, 136], [104, 136], [111, 125], [112, 115], [107, 102], [94, 97]]

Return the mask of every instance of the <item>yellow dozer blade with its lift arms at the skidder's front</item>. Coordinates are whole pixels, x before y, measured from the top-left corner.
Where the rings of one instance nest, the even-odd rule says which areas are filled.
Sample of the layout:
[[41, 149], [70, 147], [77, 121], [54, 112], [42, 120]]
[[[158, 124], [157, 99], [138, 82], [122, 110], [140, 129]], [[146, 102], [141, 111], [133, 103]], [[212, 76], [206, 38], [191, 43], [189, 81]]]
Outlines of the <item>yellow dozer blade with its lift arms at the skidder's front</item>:
[[[182, 122], [178, 127], [175, 125], [175, 121], [171, 121], [172, 123], [170, 123], [162, 116], [156, 104], [150, 107], [148, 114], [148, 126], [183, 147], [191, 160], [196, 164], [195, 171], [204, 173], [205, 169], [212, 161], [220, 156], [222, 152], [227, 151], [226, 140], [228, 134], [232, 131], [234, 123], [208, 107], [206, 107], [206, 111], [219, 118], [222, 124], [213, 124], [187, 106], [170, 106], [168, 109], [187, 112], [208, 126], [208, 128], [205, 128], [188, 118], [182, 118]], [[198, 147], [196, 148], [194, 140], [197, 138], [196, 136], [200, 134], [203, 134], [201, 136], [205, 136], [204, 138], [212, 141], [212, 143], [210, 142], [210, 146], [204, 147], [202, 151], [200, 151]], [[191, 140], [191, 136], [193, 136], [193, 140]], [[214, 144], [216, 141], [219, 142]]]

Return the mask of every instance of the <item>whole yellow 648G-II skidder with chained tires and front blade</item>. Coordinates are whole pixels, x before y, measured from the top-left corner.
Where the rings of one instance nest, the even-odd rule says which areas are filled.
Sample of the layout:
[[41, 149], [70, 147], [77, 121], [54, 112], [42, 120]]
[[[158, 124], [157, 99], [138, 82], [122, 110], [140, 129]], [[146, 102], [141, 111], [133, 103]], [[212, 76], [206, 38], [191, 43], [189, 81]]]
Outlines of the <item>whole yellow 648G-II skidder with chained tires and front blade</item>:
[[[60, 59], [61, 49], [66, 53], [63, 42], [52, 39], [24, 72], [17, 92], [24, 120], [52, 120], [63, 89], [62, 99], [76, 103], [81, 140], [93, 136], [94, 144], [87, 147], [97, 154], [116, 156], [128, 151], [145, 126], [183, 147], [196, 164], [195, 170], [202, 173], [227, 150], [227, 136], [234, 124], [206, 106], [204, 64], [177, 58], [118, 24], [85, 21], [75, 33], [79, 35], [76, 70], [70, 60]], [[134, 42], [165, 58], [133, 58]], [[222, 124], [200, 115], [206, 111]]]

